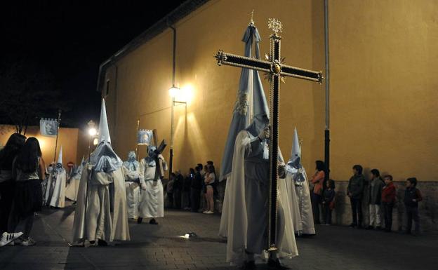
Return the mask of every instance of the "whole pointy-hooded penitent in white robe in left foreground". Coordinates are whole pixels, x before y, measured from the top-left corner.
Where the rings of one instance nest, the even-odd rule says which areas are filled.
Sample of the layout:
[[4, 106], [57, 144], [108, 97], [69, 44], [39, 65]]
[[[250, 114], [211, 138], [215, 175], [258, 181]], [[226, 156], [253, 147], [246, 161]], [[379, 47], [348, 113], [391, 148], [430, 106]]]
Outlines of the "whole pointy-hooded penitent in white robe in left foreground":
[[102, 100], [99, 144], [91, 153], [79, 184], [74, 242], [130, 239], [122, 163], [111, 147], [105, 100]]

